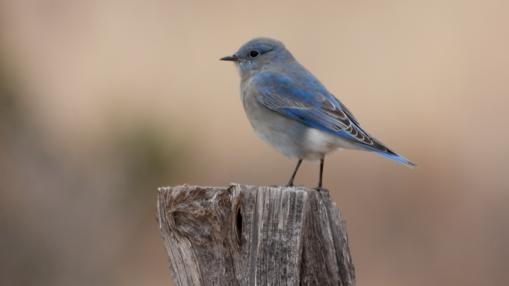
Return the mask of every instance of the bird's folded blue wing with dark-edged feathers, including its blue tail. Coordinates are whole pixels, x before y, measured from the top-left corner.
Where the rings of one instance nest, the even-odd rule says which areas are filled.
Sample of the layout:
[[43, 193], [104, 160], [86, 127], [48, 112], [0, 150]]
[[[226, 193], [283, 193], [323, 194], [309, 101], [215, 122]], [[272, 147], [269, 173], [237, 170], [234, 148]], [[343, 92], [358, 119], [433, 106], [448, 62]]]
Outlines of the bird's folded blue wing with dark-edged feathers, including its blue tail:
[[[297, 69], [297, 70], [295, 70]], [[297, 72], [299, 71], [300, 72]], [[294, 67], [289, 76], [262, 71], [252, 83], [260, 91], [258, 100], [267, 108], [319, 130], [348, 139], [407, 166], [416, 166], [362, 130], [348, 108], [307, 70]]]

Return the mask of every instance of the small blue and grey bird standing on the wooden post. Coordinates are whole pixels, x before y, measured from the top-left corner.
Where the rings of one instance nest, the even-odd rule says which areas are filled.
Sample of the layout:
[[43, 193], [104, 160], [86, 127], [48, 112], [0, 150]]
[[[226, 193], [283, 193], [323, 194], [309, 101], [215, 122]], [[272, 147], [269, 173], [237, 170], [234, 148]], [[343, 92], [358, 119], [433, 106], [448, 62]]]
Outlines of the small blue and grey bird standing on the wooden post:
[[234, 55], [241, 76], [241, 100], [256, 134], [289, 159], [320, 161], [322, 188], [325, 155], [338, 149], [374, 151], [409, 167], [417, 166], [360, 127], [353, 114], [302, 67], [285, 45], [270, 38], [246, 42]]

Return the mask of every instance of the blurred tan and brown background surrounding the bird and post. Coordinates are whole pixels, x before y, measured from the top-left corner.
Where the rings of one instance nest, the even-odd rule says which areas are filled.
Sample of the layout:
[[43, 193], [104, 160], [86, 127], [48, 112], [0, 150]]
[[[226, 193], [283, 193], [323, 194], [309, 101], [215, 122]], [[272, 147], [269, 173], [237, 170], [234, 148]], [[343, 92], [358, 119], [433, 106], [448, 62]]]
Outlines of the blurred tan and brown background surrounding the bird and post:
[[421, 166], [327, 157], [358, 285], [509, 285], [506, 0], [0, 0], [0, 285], [172, 285], [158, 186], [286, 183], [219, 62], [258, 36]]

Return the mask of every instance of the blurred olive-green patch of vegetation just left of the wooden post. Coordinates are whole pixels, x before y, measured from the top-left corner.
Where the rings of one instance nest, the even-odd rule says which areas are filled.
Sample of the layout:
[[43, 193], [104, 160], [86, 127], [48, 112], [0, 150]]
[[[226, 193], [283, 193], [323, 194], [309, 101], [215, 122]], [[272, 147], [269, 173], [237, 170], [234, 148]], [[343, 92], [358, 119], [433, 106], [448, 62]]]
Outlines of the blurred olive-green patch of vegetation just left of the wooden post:
[[152, 215], [154, 190], [178, 182], [188, 168], [188, 151], [179, 138], [168, 138], [166, 135], [172, 133], [164, 127], [147, 119], [133, 121], [113, 139], [113, 157], [125, 178], [120, 207], [132, 211], [144, 205], [142, 201], [151, 204], [147, 210]]

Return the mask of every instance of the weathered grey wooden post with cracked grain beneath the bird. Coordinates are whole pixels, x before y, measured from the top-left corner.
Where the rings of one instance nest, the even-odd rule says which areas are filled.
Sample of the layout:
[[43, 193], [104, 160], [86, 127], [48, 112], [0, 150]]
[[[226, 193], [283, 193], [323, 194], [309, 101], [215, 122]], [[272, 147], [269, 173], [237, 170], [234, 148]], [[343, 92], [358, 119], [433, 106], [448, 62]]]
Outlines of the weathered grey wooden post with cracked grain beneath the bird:
[[160, 188], [173, 280], [188, 285], [355, 285], [345, 221], [304, 187]]

